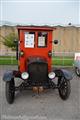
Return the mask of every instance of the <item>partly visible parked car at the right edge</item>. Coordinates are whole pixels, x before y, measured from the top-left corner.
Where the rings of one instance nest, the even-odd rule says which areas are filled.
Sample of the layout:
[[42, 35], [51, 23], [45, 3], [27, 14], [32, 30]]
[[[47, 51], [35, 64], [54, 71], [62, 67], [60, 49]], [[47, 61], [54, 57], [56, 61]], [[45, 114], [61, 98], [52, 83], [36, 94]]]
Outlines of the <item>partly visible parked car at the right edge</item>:
[[80, 76], [80, 53], [75, 53], [74, 67], [76, 74]]

